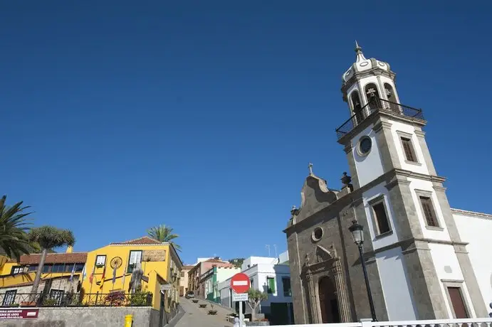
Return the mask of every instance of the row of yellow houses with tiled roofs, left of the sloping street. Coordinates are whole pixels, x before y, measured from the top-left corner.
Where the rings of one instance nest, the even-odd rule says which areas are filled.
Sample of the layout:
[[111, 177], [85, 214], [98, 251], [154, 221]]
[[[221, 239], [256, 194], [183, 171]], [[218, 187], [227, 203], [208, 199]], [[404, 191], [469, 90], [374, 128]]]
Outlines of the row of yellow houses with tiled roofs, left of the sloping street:
[[[23, 255], [19, 260], [0, 256], [0, 306], [42, 305], [39, 301], [31, 303], [40, 261], [41, 254]], [[159, 314], [172, 316], [179, 303], [182, 267], [172, 244], [147, 236], [113, 242], [90, 252], [73, 252], [68, 247], [65, 253], [47, 254], [37, 296], [48, 298], [51, 306], [100, 306], [125, 305], [129, 294], [135, 299], [138, 292], [147, 296], [147, 305]], [[132, 289], [135, 269], [139, 289]], [[77, 303], [66, 302], [68, 296]]]

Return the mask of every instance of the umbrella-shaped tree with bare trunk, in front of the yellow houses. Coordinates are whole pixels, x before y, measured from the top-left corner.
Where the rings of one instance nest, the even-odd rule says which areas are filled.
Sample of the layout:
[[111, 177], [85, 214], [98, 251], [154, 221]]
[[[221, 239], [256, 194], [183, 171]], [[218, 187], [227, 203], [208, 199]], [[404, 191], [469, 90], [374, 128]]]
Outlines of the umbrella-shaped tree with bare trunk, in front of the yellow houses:
[[36, 278], [34, 278], [34, 284], [31, 290], [31, 294], [34, 296], [38, 292], [39, 281], [41, 280], [41, 273], [43, 272], [48, 250], [65, 245], [73, 246], [75, 237], [73, 237], [71, 230], [61, 230], [53, 226], [41, 226], [32, 228], [28, 234], [28, 238], [30, 242], [37, 243], [42, 250], [38, 270], [36, 271]]

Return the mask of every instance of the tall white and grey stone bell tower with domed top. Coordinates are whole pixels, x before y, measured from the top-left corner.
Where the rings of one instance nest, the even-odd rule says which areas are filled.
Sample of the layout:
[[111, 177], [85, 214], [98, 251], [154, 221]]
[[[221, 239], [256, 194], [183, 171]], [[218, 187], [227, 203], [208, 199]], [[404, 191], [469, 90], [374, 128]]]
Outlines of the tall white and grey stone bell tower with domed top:
[[355, 53], [342, 75], [349, 118], [336, 129], [337, 141], [360, 194], [357, 220], [371, 241], [389, 318], [449, 318], [452, 287], [475, 311], [470, 316], [486, 315], [445, 178], [427, 147], [422, 109], [402, 104], [388, 63], [365, 58], [357, 42]]

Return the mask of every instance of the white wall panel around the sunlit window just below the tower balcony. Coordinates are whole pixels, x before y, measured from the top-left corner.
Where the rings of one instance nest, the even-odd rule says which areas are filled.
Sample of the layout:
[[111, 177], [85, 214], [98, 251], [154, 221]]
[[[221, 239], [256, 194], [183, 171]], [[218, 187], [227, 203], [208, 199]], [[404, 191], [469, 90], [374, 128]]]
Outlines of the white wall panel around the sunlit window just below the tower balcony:
[[[424, 160], [424, 154], [422, 154], [422, 149], [420, 149], [419, 140], [417, 139], [417, 135], [415, 135], [415, 129], [412, 125], [403, 124], [401, 122], [396, 122], [392, 119], [388, 121], [391, 125], [391, 132], [394, 139], [394, 144], [397, 148], [397, 154], [399, 158], [399, 163], [402, 166], [402, 169], [406, 169], [407, 171], [414, 171], [415, 173], [424, 173], [429, 175], [429, 169]], [[402, 141], [400, 141], [400, 136], [397, 132], [403, 132], [406, 134], [412, 135], [412, 145], [414, 146], [415, 155], [417, 156], [418, 164], [409, 164], [405, 160], [405, 154], [403, 151]]]

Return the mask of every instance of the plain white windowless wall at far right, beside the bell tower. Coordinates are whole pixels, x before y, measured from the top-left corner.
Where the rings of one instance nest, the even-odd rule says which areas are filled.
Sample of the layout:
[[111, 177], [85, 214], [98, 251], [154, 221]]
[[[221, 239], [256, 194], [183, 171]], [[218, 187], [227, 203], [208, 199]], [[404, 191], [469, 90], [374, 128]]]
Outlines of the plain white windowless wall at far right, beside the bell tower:
[[[486, 307], [492, 302], [492, 215], [470, 215], [454, 210], [454, 222], [463, 242], [469, 242], [471, 266], [478, 282]], [[488, 256], [488, 257], [487, 257]]]

